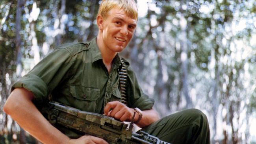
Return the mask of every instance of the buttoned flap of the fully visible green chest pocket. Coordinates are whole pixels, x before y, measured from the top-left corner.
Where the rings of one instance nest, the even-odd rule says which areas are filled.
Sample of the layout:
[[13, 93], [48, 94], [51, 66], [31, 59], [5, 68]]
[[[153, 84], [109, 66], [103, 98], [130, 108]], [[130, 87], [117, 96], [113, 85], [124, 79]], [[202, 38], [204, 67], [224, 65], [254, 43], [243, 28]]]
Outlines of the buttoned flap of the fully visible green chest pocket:
[[70, 94], [78, 100], [95, 101], [100, 97], [100, 89], [82, 85], [70, 85]]

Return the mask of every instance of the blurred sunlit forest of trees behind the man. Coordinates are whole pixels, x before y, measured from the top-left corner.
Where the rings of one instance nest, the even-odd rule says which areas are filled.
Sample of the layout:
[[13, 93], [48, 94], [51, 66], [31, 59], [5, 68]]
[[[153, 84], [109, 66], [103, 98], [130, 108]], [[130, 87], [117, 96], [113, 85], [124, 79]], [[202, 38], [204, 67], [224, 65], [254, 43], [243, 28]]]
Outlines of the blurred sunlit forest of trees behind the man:
[[[11, 85], [60, 44], [98, 33], [97, 0], [0, 1], [0, 143], [39, 143], [3, 112]], [[212, 144], [256, 144], [256, 1], [138, 0], [121, 53], [161, 117], [207, 116]]]

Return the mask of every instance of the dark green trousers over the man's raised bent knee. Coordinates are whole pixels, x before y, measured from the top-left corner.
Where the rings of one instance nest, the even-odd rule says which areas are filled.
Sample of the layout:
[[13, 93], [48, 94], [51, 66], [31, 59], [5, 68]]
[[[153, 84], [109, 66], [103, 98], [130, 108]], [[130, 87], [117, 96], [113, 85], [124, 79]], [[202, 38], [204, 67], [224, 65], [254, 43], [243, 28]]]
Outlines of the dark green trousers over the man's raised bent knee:
[[171, 114], [142, 131], [172, 144], [210, 144], [207, 117], [198, 109], [187, 109]]

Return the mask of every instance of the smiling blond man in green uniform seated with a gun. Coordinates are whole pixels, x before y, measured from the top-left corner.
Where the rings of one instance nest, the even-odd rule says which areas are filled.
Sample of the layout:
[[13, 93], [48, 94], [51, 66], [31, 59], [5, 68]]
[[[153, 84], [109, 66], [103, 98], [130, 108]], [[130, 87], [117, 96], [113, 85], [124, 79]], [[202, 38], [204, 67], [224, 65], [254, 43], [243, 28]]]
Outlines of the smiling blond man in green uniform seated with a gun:
[[122, 63], [118, 52], [126, 48], [134, 35], [137, 11], [134, 0], [103, 0], [97, 16], [97, 37], [91, 42], [56, 48], [13, 85], [4, 111], [46, 144], [107, 143], [65, 127], [53, 127], [38, 110], [48, 98], [120, 121], [133, 120], [144, 131], [173, 144], [210, 143], [208, 121], [199, 110], [190, 109], [159, 120], [158, 113], [152, 109], [154, 101], [143, 94], [124, 59], [129, 107], [119, 102], [118, 71]]

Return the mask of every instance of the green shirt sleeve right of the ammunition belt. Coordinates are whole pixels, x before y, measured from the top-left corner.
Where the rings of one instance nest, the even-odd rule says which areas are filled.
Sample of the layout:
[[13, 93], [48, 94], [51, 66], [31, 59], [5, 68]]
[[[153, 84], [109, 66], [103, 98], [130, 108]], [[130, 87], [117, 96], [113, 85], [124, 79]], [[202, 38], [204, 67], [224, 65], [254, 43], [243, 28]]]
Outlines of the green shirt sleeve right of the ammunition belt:
[[128, 96], [132, 108], [138, 107], [141, 110], [152, 109], [154, 100], [149, 98], [139, 87], [135, 73], [128, 68]]

